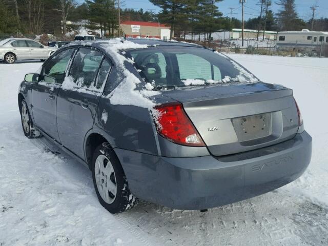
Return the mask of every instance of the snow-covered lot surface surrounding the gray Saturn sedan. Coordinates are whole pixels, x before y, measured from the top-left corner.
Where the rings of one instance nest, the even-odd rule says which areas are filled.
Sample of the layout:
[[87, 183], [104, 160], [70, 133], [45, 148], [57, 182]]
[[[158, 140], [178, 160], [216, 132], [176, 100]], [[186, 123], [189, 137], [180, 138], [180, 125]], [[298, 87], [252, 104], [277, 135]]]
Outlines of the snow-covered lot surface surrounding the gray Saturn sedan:
[[328, 245], [328, 59], [229, 56], [294, 89], [313, 136], [300, 179], [206, 213], [140, 202], [111, 215], [89, 170], [45, 138], [23, 134], [17, 87], [40, 63], [0, 64], [0, 245]]

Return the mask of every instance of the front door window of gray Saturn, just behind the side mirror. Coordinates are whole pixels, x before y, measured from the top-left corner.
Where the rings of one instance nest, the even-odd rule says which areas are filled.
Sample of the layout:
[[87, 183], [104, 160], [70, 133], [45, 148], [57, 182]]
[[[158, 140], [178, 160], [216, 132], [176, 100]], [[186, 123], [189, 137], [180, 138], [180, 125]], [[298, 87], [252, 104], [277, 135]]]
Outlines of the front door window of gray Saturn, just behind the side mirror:
[[53, 80], [47, 81], [47, 76], [50, 76], [55, 78], [57, 83], [63, 84], [66, 68], [74, 50], [67, 49], [54, 55], [44, 66], [41, 79], [51, 83]]

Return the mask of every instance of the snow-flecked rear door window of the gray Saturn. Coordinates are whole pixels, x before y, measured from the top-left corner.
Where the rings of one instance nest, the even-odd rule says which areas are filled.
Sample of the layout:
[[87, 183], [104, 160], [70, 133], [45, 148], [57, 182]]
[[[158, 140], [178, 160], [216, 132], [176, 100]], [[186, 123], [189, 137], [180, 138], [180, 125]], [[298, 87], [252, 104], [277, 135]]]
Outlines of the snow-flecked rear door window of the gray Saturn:
[[76, 87], [95, 90], [95, 78], [103, 56], [94, 49], [80, 48], [78, 50], [69, 74]]

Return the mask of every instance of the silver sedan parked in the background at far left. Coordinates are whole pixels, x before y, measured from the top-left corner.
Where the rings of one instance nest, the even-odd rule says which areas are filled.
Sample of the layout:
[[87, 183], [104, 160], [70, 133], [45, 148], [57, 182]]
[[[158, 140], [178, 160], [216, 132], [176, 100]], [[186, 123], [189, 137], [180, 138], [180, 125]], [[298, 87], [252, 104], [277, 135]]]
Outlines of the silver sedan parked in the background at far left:
[[0, 41], [0, 60], [14, 63], [16, 60], [47, 59], [56, 48], [44, 46], [28, 38], [7, 38]]

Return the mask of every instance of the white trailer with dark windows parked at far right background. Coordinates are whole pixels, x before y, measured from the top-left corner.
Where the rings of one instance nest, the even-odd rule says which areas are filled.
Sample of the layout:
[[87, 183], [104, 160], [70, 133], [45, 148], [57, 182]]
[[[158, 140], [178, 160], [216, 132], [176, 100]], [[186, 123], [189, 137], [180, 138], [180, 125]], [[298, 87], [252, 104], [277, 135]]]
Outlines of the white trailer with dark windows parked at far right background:
[[279, 49], [314, 49], [322, 45], [328, 45], [328, 32], [315, 32], [303, 29], [301, 32], [278, 32], [276, 47]]

